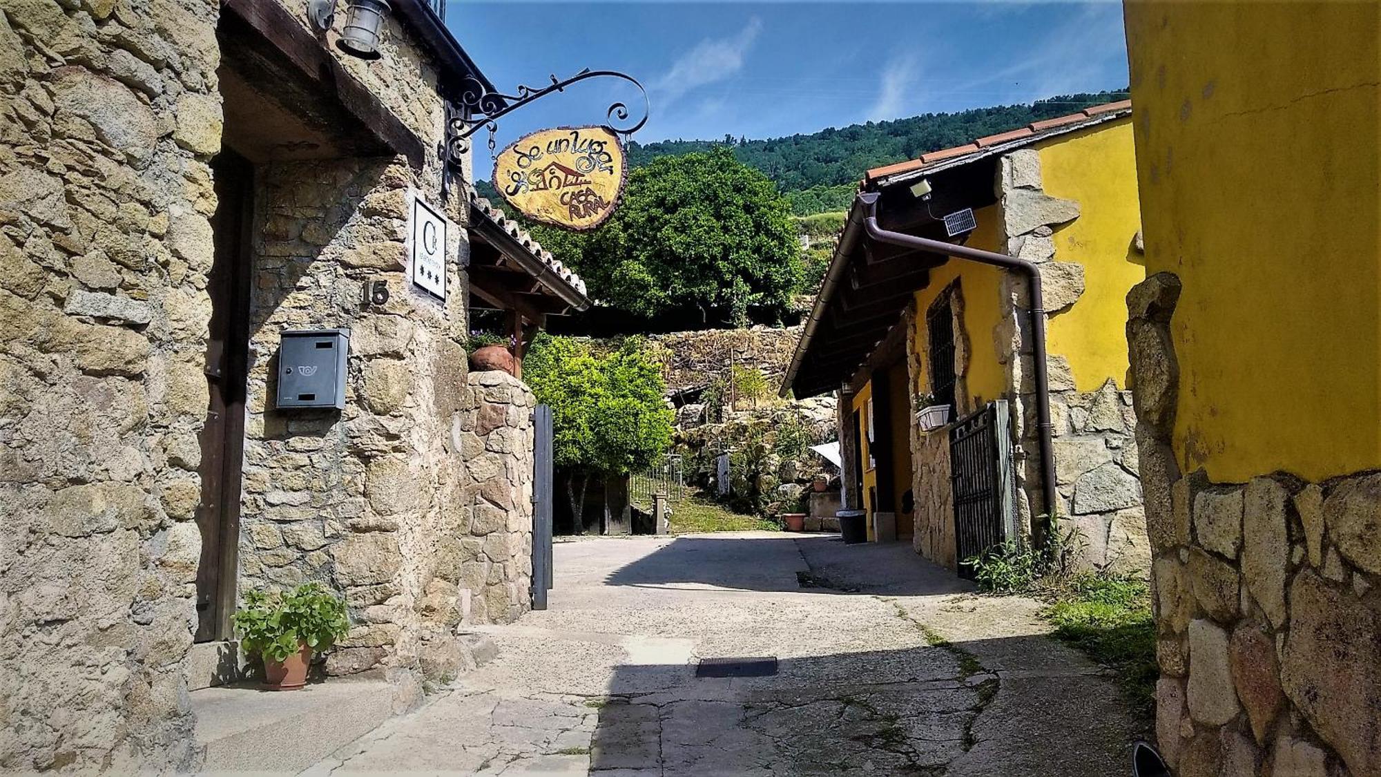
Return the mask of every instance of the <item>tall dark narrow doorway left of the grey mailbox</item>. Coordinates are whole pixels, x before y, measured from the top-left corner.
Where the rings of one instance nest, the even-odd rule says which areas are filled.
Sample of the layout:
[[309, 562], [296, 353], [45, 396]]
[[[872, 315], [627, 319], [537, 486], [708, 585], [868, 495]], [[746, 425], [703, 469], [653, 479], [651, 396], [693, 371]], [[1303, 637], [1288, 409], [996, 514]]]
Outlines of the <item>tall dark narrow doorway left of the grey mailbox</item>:
[[217, 196], [211, 217], [215, 260], [207, 279], [211, 297], [206, 348], [210, 404], [202, 433], [202, 502], [196, 517], [202, 531], [196, 642], [229, 639], [235, 608], [254, 221], [254, 166], [250, 160], [224, 148], [211, 160], [211, 174]]

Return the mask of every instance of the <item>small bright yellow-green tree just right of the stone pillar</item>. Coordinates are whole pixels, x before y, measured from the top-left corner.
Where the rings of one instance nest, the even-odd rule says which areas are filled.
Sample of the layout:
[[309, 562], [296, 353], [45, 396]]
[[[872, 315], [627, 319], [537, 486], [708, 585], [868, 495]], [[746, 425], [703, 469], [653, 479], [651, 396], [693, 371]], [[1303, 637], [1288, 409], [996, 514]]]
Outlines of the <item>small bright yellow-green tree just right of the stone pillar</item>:
[[552, 463], [566, 473], [580, 534], [591, 476], [646, 469], [671, 448], [661, 368], [635, 339], [601, 357], [577, 340], [543, 335], [523, 358], [523, 380], [551, 406]]

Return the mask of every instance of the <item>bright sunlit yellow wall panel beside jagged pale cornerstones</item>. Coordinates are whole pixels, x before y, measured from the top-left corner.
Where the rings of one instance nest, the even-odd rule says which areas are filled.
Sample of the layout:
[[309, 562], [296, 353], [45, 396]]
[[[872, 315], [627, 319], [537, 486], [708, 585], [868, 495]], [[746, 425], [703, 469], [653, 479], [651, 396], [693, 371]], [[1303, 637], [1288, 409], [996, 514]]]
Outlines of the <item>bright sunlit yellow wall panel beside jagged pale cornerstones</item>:
[[1059, 135], [1037, 147], [1045, 194], [1079, 202], [1079, 218], [1055, 228], [1055, 260], [1084, 267], [1084, 293], [1050, 318], [1047, 347], [1069, 359], [1074, 384], [1109, 377], [1126, 388], [1127, 290], [1146, 278], [1132, 247], [1141, 228], [1131, 118]]

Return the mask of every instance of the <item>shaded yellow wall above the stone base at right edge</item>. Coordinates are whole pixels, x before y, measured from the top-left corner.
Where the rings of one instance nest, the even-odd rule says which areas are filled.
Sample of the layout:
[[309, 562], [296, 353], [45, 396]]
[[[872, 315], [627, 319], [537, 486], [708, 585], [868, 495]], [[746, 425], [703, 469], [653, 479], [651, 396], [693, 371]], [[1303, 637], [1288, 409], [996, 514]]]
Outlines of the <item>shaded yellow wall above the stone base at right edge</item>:
[[1381, 6], [1127, 3], [1174, 448], [1215, 481], [1381, 466]]

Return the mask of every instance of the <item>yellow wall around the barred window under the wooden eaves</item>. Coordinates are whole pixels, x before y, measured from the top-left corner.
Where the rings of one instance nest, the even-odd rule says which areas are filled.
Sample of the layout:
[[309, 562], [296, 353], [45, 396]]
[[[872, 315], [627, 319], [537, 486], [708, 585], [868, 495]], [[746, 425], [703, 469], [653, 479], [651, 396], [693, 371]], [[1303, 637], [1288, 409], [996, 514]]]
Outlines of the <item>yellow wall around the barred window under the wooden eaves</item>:
[[[1004, 252], [1003, 245], [1003, 214], [997, 206], [981, 207], [974, 212], [978, 227], [969, 235], [968, 245]], [[974, 405], [1004, 395], [1007, 377], [1003, 365], [997, 361], [997, 350], [993, 344], [993, 326], [1000, 319], [1000, 294], [1003, 271], [986, 264], [974, 261], [949, 260], [942, 267], [931, 270], [931, 282], [927, 288], [916, 292], [916, 353], [921, 358], [921, 384], [917, 391], [929, 391], [929, 351], [928, 333], [925, 330], [925, 312], [931, 303], [949, 285], [958, 278], [960, 290], [964, 294], [964, 332], [968, 335], [968, 394], [974, 398]], [[1123, 315], [1126, 318], [1126, 314]]]

